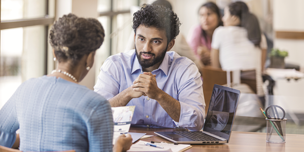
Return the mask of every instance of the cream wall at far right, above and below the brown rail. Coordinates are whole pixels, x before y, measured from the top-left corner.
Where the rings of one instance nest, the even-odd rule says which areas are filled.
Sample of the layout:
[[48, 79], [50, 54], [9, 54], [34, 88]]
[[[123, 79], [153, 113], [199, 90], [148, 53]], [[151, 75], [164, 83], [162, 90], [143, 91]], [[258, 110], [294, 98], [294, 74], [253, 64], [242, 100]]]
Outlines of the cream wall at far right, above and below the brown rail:
[[[304, 1], [276, 0], [274, 3], [274, 31], [304, 31]], [[304, 40], [274, 39], [274, 48], [289, 52], [285, 62], [299, 64], [304, 72]]]

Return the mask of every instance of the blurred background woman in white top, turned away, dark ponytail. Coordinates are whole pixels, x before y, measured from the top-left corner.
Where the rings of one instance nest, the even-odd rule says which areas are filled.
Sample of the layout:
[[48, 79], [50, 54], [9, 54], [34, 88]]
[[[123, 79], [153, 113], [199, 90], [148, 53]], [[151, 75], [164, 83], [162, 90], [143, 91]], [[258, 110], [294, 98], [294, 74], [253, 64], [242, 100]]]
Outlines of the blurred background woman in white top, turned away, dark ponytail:
[[222, 21], [224, 26], [216, 28], [212, 37], [211, 66], [228, 71], [255, 70], [256, 92], [263, 96], [261, 70], [267, 43], [257, 18], [245, 3], [235, 2], [224, 9]]

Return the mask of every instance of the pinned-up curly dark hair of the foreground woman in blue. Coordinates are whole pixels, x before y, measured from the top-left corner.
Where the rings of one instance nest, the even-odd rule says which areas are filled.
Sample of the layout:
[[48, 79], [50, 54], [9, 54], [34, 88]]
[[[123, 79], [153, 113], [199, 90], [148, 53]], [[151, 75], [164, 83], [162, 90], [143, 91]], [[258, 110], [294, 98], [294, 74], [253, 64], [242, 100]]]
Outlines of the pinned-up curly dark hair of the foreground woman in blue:
[[94, 18], [68, 14], [55, 22], [49, 38], [58, 62], [70, 59], [75, 65], [85, 54], [96, 51], [102, 45], [104, 29]]

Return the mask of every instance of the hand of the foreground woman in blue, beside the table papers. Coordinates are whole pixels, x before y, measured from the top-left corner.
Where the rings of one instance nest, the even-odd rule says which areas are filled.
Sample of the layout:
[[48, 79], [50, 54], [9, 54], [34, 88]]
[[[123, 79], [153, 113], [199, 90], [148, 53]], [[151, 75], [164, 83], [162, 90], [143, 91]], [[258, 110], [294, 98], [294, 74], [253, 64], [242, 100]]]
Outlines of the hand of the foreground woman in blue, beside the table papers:
[[114, 152], [127, 151], [130, 149], [131, 145], [132, 145], [131, 135], [122, 134], [116, 139], [115, 145], [113, 147], [113, 151]]

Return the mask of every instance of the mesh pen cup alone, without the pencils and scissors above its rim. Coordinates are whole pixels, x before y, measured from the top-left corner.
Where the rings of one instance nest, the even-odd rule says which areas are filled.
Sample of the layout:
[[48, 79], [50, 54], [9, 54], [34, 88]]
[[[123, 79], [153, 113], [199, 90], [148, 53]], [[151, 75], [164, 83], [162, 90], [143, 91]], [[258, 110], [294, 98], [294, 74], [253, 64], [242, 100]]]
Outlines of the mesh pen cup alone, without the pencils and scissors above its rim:
[[267, 121], [267, 142], [272, 143], [284, 143], [285, 141], [285, 131], [286, 131], [286, 121], [283, 120], [275, 120], [275, 119], [266, 119]]

